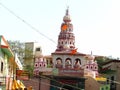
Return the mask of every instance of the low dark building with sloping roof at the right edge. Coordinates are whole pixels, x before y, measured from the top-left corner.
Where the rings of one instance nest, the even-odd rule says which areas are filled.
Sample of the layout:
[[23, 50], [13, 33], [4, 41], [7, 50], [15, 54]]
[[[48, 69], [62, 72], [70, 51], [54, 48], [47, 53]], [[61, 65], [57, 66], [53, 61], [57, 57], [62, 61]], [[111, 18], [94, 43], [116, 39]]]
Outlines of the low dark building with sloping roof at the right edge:
[[110, 71], [105, 75], [108, 79], [107, 83], [110, 84], [110, 90], [120, 90], [120, 60], [109, 60], [103, 63], [102, 68]]

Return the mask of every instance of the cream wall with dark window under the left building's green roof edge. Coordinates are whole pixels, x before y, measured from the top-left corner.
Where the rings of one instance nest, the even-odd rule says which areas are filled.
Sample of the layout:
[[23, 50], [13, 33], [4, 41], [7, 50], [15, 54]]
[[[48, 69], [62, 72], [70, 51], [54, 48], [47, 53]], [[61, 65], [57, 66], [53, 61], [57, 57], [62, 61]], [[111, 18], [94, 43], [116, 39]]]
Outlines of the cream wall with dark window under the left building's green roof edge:
[[0, 83], [2, 83], [0, 89], [7, 90], [10, 88], [12, 79], [13, 63], [11, 62], [11, 58], [0, 48]]

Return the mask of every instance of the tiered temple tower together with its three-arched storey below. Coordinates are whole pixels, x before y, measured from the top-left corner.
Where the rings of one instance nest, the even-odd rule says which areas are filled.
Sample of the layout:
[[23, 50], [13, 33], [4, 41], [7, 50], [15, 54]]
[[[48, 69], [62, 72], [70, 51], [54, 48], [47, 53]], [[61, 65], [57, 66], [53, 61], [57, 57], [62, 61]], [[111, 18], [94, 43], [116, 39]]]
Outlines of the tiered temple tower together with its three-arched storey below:
[[69, 8], [67, 8], [58, 35], [57, 49], [52, 53], [53, 67], [64, 69], [81, 68], [85, 64], [83, 56], [85, 54], [77, 52], [75, 47], [73, 24], [69, 15]]

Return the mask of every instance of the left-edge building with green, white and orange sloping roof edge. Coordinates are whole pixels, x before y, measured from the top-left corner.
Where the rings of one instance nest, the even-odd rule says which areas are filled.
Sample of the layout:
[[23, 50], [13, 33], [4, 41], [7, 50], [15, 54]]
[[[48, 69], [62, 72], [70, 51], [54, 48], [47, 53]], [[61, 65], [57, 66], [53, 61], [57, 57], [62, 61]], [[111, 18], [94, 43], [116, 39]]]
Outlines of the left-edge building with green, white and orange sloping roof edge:
[[11, 50], [7, 40], [0, 36], [0, 89], [12, 88], [12, 80], [16, 79], [16, 68], [22, 69], [19, 59]]

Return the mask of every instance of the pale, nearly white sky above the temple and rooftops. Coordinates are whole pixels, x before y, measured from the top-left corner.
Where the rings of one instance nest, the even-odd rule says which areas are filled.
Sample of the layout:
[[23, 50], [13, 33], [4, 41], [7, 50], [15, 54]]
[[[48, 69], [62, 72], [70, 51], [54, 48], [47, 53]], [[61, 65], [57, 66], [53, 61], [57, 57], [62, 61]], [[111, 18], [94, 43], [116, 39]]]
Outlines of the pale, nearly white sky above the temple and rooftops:
[[0, 34], [50, 55], [68, 6], [78, 52], [120, 57], [120, 0], [0, 0]]

